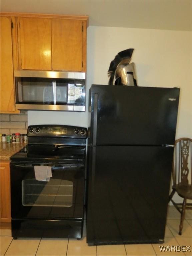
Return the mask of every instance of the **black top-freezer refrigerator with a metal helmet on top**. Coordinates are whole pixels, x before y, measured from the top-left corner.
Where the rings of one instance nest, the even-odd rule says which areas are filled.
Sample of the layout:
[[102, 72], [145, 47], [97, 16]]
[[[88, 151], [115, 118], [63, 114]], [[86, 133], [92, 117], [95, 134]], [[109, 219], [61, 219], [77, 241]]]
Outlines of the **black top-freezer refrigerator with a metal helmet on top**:
[[89, 245], [163, 242], [179, 91], [91, 86]]

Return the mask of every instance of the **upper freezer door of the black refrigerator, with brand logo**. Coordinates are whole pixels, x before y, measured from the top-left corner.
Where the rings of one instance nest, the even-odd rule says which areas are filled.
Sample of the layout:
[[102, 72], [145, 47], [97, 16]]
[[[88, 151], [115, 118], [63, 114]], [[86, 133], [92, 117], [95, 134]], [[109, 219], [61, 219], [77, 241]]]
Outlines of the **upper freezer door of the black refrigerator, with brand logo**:
[[92, 145], [173, 145], [177, 88], [92, 85]]

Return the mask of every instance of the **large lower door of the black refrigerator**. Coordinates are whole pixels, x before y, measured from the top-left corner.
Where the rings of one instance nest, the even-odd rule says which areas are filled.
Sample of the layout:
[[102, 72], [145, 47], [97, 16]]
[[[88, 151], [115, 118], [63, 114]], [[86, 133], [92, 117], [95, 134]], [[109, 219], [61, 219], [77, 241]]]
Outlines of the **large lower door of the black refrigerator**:
[[164, 239], [173, 147], [88, 147], [87, 243]]

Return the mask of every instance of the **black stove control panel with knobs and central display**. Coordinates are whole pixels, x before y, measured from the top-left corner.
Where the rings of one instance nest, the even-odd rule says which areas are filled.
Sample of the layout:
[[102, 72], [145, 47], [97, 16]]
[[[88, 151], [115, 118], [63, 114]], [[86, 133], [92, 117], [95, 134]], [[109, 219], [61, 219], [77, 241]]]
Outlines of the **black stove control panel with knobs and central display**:
[[70, 125], [30, 125], [28, 137], [87, 138], [87, 128]]

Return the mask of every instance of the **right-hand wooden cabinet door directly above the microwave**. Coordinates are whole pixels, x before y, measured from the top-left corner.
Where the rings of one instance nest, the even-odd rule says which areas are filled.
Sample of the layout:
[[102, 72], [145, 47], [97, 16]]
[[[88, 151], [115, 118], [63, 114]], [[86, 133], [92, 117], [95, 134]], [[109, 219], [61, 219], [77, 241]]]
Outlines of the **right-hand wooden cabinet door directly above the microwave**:
[[82, 71], [82, 21], [52, 19], [51, 22], [53, 70]]

